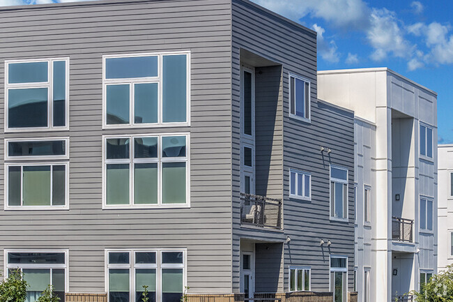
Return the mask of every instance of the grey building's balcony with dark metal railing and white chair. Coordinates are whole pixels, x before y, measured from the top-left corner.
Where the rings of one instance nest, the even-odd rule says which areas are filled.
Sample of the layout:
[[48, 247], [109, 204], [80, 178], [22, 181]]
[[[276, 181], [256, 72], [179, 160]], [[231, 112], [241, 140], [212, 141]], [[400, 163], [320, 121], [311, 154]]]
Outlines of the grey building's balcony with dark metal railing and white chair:
[[282, 199], [240, 193], [240, 224], [282, 228]]

